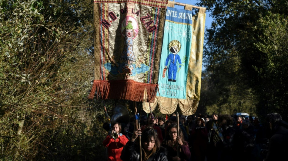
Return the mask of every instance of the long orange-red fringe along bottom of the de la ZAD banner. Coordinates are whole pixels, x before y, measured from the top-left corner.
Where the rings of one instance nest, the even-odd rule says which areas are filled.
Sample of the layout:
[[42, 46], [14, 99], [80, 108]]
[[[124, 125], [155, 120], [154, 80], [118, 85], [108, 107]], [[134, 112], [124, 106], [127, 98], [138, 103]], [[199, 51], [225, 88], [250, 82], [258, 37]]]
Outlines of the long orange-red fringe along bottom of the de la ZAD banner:
[[[153, 102], [158, 90], [158, 84], [140, 83], [134, 80], [94, 80], [89, 99], [93, 99], [94, 95], [97, 99], [126, 99], [130, 101], [142, 102], [144, 91], [147, 91], [149, 98], [147, 101]], [[95, 93], [96, 92], [96, 93]]]

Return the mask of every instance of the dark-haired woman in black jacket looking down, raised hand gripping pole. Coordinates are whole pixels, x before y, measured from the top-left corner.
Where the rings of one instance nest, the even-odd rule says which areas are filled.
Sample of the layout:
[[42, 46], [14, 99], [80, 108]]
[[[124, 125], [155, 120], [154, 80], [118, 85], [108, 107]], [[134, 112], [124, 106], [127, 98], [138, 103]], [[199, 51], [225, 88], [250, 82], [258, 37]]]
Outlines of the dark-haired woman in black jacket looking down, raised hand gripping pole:
[[[135, 126], [136, 127], [136, 126]], [[167, 152], [160, 146], [157, 132], [152, 127], [146, 127], [143, 132], [141, 128], [134, 129], [133, 135], [122, 150], [121, 159], [124, 161], [139, 161], [140, 147], [138, 136], [141, 135], [142, 160], [168, 161]]]

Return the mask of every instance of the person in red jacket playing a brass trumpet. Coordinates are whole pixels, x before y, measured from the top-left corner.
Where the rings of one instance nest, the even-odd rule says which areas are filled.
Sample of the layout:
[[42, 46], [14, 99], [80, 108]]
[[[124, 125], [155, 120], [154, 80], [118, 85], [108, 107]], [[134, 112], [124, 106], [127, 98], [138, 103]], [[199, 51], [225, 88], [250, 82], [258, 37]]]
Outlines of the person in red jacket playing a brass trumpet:
[[120, 156], [122, 149], [129, 140], [127, 139], [127, 137], [125, 137], [125, 135], [122, 135], [120, 132], [121, 124], [115, 123], [112, 126], [111, 134], [108, 135], [103, 141], [104, 147], [108, 147], [108, 161], [121, 161]]

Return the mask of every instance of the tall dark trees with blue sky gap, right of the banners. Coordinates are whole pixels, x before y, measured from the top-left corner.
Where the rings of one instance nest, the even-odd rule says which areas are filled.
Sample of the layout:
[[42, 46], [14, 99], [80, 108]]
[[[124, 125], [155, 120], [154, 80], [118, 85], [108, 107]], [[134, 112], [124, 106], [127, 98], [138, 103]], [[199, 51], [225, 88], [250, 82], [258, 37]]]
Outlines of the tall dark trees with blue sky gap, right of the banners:
[[278, 112], [288, 120], [287, 1], [211, 0], [198, 5], [207, 6], [214, 18], [203, 53], [208, 87], [203, 84], [201, 91], [213, 102], [203, 108], [261, 118]]

